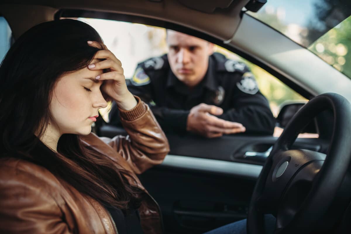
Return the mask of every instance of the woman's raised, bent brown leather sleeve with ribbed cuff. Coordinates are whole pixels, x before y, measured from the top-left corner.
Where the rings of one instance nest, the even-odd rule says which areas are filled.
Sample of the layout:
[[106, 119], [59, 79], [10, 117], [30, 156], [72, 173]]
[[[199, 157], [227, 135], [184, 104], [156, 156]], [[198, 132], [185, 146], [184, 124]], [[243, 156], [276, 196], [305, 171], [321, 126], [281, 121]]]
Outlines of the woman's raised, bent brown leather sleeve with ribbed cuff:
[[162, 163], [170, 151], [168, 140], [150, 108], [140, 100], [130, 111], [119, 109], [122, 126], [128, 135], [102, 139], [129, 163], [136, 174]]

